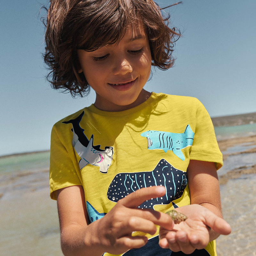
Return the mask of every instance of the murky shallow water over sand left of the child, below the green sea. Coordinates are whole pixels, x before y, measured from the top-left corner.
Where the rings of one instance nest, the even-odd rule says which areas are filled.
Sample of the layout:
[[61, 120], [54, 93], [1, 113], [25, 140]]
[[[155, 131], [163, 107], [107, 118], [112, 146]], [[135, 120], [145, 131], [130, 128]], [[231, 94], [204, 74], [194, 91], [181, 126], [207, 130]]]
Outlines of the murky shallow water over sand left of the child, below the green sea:
[[0, 255], [60, 256], [56, 201], [49, 172], [0, 175]]

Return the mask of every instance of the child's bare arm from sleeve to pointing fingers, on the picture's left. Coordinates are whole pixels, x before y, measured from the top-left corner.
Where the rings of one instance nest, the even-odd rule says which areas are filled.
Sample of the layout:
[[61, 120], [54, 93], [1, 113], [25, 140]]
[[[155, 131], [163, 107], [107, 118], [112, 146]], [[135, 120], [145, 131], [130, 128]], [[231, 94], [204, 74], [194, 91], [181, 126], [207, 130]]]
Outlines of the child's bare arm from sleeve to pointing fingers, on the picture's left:
[[148, 241], [146, 236], [132, 236], [133, 231], [151, 235], [156, 225], [172, 229], [170, 216], [154, 210], [136, 209], [145, 200], [165, 194], [164, 187], [137, 190], [119, 200], [103, 218], [89, 225], [82, 186], [57, 191], [60, 219], [61, 248], [64, 255], [101, 256], [104, 252], [121, 254], [139, 248]]

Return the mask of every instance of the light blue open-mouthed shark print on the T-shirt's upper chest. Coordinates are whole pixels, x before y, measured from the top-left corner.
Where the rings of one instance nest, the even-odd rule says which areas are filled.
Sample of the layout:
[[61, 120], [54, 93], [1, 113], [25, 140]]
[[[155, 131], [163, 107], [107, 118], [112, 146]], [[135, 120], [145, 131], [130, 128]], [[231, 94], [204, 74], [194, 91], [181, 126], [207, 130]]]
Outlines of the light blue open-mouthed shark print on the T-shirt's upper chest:
[[192, 146], [195, 133], [188, 124], [183, 133], [147, 131], [140, 135], [148, 139], [148, 149], [163, 149], [165, 153], [172, 150], [176, 156], [184, 161], [185, 157], [181, 149]]

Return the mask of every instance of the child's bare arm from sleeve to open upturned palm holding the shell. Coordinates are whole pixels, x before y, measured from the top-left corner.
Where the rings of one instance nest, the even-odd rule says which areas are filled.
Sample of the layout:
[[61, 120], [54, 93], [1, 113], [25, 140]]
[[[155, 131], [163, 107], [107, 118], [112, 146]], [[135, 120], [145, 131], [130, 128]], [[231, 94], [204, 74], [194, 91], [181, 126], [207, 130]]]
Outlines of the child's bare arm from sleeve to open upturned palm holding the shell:
[[203, 249], [220, 234], [231, 232], [229, 224], [222, 219], [219, 181], [215, 164], [190, 160], [187, 169], [191, 204], [180, 211], [188, 216], [185, 222], [174, 225], [172, 231], [160, 228], [159, 244], [174, 252], [192, 253]]

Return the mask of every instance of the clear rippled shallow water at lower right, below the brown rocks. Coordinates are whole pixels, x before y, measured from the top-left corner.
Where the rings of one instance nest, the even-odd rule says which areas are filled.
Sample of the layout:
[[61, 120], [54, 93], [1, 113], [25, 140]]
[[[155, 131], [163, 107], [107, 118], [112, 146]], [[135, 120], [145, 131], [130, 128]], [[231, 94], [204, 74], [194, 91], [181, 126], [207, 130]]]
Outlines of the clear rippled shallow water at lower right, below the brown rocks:
[[223, 217], [232, 232], [217, 239], [218, 256], [256, 255], [255, 183], [256, 174], [247, 174], [220, 186]]

